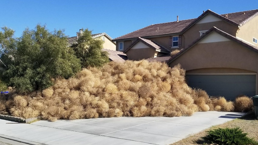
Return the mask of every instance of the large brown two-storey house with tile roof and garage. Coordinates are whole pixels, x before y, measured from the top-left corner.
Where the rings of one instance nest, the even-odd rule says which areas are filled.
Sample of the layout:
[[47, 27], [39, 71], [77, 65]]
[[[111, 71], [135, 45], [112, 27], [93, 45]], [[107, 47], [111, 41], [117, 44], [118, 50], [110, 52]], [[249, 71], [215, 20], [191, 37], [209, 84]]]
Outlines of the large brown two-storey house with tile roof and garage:
[[[150, 25], [113, 41], [128, 59], [164, 61], [171, 67], [181, 64], [188, 85], [211, 96], [254, 96], [258, 90], [257, 15], [258, 9], [223, 15], [207, 10], [197, 19]], [[159, 49], [149, 52], [149, 57], [151, 43], [163, 50], [182, 50], [169, 60]]]

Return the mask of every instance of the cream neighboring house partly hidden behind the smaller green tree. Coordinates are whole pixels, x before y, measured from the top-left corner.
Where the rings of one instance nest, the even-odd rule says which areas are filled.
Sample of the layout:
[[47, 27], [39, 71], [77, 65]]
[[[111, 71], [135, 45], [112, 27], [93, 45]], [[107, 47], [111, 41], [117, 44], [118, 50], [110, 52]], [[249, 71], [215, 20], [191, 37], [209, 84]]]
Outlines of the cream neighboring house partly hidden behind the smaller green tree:
[[[83, 35], [82, 30], [77, 32], [77, 36], [69, 37], [68, 39], [68, 46], [72, 46], [73, 44], [77, 43], [77, 39]], [[114, 62], [124, 62], [127, 60], [126, 54], [123, 52], [115, 51], [116, 50], [116, 43], [112, 41], [112, 38], [107, 35], [106, 33], [99, 33], [99, 34], [92, 34], [93, 39], [101, 39], [104, 41], [103, 50], [108, 52], [109, 60]]]

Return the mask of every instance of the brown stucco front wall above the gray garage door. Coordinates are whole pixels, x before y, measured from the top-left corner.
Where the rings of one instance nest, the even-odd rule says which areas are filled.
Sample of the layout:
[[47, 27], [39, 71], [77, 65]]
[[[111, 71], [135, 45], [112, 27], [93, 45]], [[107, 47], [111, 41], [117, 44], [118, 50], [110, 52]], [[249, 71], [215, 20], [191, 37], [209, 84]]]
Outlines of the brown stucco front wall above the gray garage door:
[[[213, 68], [213, 73], [222, 71], [223, 73], [231, 73], [234, 69], [235, 72], [242, 69], [239, 73], [251, 72], [257, 75], [258, 53], [233, 41], [201, 43], [190, 48], [171, 62], [169, 66], [173, 67], [178, 63], [187, 73], [194, 73], [196, 71], [191, 72], [191, 70], [196, 69]], [[207, 71], [203, 73], [207, 73]], [[258, 92], [257, 82], [258, 80], [256, 80], [256, 93]]]

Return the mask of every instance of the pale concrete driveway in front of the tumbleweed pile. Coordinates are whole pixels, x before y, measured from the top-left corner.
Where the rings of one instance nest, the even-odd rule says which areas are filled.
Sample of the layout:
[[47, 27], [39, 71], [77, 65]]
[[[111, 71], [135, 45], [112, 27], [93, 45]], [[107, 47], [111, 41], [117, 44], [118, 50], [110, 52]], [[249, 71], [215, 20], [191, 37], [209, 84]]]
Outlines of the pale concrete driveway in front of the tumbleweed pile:
[[29, 144], [165, 145], [244, 113], [196, 112], [181, 117], [118, 117], [38, 121], [32, 124], [0, 120], [1, 137]]

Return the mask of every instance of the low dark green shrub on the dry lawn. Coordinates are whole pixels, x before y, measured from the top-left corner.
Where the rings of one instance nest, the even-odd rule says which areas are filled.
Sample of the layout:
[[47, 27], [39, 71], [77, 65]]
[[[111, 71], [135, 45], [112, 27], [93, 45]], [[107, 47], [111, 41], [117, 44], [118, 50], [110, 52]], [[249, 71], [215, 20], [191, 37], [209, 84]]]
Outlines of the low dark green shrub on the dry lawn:
[[207, 135], [202, 139], [210, 141], [212, 143], [218, 143], [219, 145], [257, 145], [258, 143], [253, 139], [246, 137], [247, 133], [239, 127], [235, 128], [218, 128], [207, 131]]

